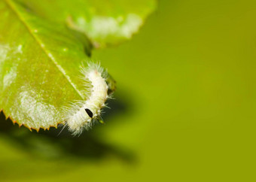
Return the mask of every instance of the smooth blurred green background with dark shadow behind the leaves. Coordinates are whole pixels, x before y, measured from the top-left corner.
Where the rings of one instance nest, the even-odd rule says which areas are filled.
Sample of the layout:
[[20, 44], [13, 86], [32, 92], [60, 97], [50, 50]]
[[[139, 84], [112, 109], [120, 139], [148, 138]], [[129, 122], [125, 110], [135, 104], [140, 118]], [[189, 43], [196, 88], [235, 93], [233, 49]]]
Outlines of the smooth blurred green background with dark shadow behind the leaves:
[[72, 138], [1, 115], [0, 181], [254, 181], [255, 1], [160, 1], [131, 41], [94, 50], [117, 80]]

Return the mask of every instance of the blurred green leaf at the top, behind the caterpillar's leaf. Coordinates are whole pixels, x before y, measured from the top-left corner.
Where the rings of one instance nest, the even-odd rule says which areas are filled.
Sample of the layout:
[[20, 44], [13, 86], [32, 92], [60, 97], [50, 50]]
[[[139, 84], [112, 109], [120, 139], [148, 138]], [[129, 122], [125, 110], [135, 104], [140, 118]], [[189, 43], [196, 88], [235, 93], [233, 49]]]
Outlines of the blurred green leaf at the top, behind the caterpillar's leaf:
[[47, 20], [84, 32], [95, 47], [130, 39], [156, 8], [156, 0], [19, 1]]

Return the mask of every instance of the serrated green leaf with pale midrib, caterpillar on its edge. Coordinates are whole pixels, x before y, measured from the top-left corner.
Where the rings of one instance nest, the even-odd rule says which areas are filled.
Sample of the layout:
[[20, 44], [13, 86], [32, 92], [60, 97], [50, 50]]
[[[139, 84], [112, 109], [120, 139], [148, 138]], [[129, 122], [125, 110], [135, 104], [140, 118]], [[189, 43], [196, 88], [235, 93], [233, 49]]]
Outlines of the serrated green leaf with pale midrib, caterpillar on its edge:
[[85, 99], [80, 65], [90, 42], [56, 23], [41, 20], [12, 0], [0, 1], [0, 109], [29, 129], [62, 121], [62, 107]]

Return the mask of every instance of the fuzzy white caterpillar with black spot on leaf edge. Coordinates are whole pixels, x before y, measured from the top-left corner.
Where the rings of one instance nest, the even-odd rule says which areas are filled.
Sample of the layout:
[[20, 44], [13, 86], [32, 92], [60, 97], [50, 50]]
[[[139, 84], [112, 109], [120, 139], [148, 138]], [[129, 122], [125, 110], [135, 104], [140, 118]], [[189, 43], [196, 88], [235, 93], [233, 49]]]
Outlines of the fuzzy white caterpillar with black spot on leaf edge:
[[[87, 68], [81, 68], [85, 80], [84, 86], [90, 90], [86, 101], [79, 101], [66, 108], [66, 125], [73, 135], [80, 135], [84, 129], [90, 129], [100, 117], [101, 109], [105, 107], [108, 99], [107, 72], [95, 63], [88, 63]], [[88, 81], [90, 83], [88, 83]]]

